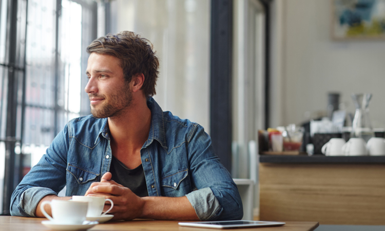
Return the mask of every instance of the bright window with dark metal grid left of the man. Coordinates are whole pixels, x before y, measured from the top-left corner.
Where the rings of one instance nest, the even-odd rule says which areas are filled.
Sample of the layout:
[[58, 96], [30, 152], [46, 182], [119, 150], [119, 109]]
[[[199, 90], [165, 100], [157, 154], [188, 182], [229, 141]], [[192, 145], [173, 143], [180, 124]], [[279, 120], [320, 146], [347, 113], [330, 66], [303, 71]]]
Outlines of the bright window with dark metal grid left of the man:
[[85, 49], [96, 38], [97, 3], [0, 2], [0, 209], [8, 214], [14, 188], [56, 134], [89, 114]]

